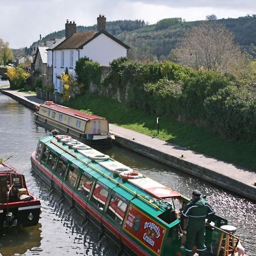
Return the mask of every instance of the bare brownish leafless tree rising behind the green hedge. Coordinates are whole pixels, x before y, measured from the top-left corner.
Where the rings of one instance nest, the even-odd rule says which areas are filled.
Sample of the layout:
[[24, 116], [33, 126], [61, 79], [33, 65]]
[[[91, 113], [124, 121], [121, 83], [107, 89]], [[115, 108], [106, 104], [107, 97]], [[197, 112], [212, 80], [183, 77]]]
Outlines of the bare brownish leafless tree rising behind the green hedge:
[[192, 28], [171, 55], [178, 63], [195, 69], [230, 72], [230, 64], [240, 59], [241, 51], [225, 26], [205, 22]]

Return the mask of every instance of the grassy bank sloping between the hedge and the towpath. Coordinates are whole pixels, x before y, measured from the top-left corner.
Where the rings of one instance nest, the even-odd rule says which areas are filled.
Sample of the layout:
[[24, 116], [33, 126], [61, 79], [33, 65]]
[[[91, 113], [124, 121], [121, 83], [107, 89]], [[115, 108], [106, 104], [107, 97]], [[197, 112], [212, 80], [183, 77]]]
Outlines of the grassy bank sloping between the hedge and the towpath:
[[[67, 105], [74, 109], [100, 115], [108, 119], [109, 123], [151, 137], [157, 133], [155, 116], [137, 109], [127, 108], [127, 106], [109, 98], [84, 95], [71, 100]], [[255, 141], [247, 143], [228, 141], [203, 127], [179, 123], [167, 117], [160, 117], [159, 119], [158, 138], [256, 171]]]

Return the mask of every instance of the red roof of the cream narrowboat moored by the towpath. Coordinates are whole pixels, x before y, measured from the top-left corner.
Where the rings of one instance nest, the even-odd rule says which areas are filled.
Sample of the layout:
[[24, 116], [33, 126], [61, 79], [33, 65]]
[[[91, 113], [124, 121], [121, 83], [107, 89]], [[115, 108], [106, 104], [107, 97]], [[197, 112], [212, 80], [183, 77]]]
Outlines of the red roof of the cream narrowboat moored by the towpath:
[[46, 102], [44, 102], [40, 104], [40, 106], [44, 106], [45, 108], [52, 109], [52, 110], [55, 110], [56, 112], [60, 112], [63, 114], [79, 117], [81, 119], [85, 119], [86, 121], [93, 120], [93, 119], [106, 119], [104, 117], [99, 117], [98, 115], [84, 113], [79, 110], [71, 109], [66, 106], [58, 105], [55, 103], [47, 104]]

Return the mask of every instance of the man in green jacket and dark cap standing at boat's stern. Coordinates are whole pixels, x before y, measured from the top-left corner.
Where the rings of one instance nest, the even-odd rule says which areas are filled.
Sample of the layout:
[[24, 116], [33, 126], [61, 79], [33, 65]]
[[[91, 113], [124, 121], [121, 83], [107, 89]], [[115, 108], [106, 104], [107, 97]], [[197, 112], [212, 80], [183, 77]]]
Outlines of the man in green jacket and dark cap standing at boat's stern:
[[[214, 216], [214, 210], [201, 197], [201, 192], [197, 189], [192, 192], [192, 200], [187, 204], [181, 212], [180, 220], [188, 218], [187, 237], [185, 242], [186, 256], [193, 255], [193, 246], [197, 246], [199, 255], [206, 255], [207, 248], [205, 246], [205, 225], [209, 225]], [[205, 220], [207, 222], [205, 223]]]

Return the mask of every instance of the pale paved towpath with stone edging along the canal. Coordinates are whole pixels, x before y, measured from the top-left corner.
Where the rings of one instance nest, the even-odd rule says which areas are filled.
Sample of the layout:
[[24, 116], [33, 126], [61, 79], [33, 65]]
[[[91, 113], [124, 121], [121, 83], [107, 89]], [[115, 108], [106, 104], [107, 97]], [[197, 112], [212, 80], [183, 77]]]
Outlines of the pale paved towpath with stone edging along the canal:
[[[44, 102], [35, 94], [9, 89], [0, 91], [31, 109]], [[115, 135], [115, 142], [123, 147], [256, 201], [256, 170], [246, 170], [116, 125], [109, 124], [109, 130]]]

